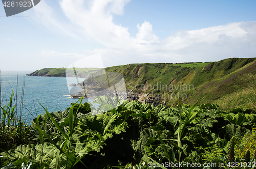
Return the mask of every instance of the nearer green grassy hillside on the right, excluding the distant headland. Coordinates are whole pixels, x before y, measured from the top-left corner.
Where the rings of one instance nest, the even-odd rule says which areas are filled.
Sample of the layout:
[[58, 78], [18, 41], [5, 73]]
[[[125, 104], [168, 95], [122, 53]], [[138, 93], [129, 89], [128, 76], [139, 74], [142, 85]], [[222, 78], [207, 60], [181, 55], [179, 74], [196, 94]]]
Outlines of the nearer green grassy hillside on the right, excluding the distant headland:
[[[160, 103], [216, 103], [222, 108], [251, 107], [250, 82], [256, 83], [256, 58], [231, 58], [212, 63], [129, 64], [106, 68], [123, 74], [127, 90], [150, 93]], [[183, 96], [183, 97], [181, 97]]]

